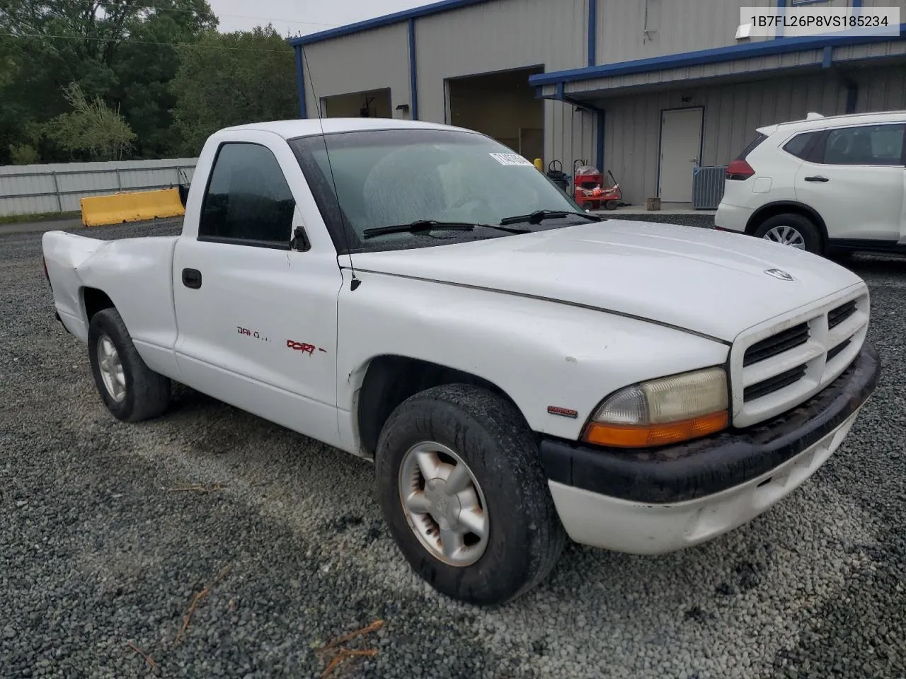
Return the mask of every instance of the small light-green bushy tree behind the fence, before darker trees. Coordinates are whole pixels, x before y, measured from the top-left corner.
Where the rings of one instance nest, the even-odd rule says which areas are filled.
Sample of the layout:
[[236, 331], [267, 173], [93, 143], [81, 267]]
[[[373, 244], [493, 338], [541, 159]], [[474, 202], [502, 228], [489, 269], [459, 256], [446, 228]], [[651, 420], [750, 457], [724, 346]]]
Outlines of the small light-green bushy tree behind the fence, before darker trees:
[[72, 83], [65, 89], [71, 113], [52, 120], [45, 134], [73, 157], [86, 160], [121, 160], [136, 139], [120, 110], [111, 109], [100, 97], [89, 101], [82, 88]]

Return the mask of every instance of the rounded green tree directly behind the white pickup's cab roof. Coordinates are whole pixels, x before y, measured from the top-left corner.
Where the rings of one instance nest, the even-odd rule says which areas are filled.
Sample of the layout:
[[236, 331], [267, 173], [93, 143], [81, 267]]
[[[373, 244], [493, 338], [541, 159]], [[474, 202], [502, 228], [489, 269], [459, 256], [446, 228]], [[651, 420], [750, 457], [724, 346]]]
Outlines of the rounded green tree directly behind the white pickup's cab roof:
[[293, 48], [274, 27], [206, 33], [178, 46], [171, 83], [183, 153], [197, 156], [205, 139], [231, 125], [298, 117]]

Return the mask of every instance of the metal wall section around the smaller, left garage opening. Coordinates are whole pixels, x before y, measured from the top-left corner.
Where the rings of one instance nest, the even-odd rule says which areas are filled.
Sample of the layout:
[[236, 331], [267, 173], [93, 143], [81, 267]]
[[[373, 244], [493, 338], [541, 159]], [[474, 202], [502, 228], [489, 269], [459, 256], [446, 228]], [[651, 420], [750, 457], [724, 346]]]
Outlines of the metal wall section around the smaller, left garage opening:
[[410, 103], [406, 22], [305, 45], [303, 49], [308, 62], [304, 75], [310, 118], [317, 114], [318, 99], [335, 94], [389, 87], [390, 110]]

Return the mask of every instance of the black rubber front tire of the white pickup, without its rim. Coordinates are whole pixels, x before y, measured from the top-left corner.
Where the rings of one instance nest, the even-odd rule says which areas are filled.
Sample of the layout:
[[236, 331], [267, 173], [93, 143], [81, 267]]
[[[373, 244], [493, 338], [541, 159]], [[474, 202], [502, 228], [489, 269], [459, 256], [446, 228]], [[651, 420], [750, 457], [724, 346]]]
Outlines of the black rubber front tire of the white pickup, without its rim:
[[[485, 498], [487, 547], [467, 566], [432, 554], [410, 527], [400, 465], [413, 445], [455, 451]], [[416, 394], [388, 418], [376, 454], [377, 493], [390, 532], [411, 567], [450, 598], [496, 606], [519, 597], [554, 568], [566, 539], [535, 436], [512, 403], [479, 387], [444, 385]]]

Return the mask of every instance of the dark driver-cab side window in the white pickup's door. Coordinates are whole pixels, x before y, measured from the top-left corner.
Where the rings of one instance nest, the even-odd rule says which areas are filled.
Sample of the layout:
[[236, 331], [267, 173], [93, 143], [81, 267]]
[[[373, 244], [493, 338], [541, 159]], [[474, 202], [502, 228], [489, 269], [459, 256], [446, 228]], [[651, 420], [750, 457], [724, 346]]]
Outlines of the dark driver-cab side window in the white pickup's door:
[[270, 149], [226, 143], [214, 161], [198, 238], [288, 247], [294, 210], [293, 194]]

